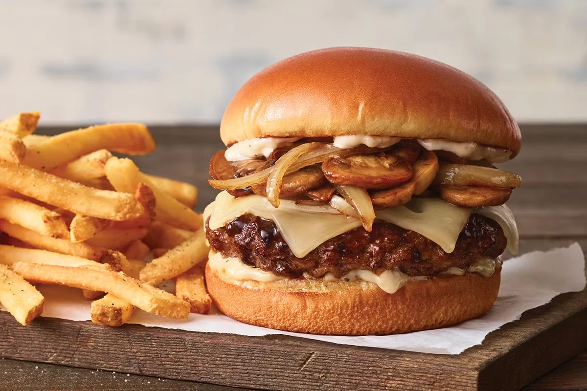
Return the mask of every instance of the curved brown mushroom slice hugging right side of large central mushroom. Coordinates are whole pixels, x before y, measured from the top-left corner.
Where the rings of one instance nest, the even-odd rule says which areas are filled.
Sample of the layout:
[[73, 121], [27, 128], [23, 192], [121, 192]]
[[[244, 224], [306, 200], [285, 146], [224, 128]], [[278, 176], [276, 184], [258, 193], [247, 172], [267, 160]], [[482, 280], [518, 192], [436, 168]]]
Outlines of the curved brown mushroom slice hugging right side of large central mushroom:
[[404, 205], [412, 195], [419, 195], [426, 191], [434, 181], [438, 172], [438, 158], [436, 154], [424, 149], [413, 165], [414, 176], [409, 182], [391, 189], [371, 193], [371, 200], [375, 208], [390, 208]]

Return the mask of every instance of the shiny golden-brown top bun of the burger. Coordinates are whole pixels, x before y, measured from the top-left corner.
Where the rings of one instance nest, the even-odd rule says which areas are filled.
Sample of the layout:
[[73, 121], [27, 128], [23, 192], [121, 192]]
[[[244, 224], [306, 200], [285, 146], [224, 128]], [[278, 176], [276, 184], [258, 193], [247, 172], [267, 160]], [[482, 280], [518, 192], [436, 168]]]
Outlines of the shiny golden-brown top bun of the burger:
[[426, 57], [333, 47], [267, 67], [222, 117], [226, 145], [261, 137], [372, 135], [474, 141], [512, 151], [521, 135], [504, 103], [474, 77]]

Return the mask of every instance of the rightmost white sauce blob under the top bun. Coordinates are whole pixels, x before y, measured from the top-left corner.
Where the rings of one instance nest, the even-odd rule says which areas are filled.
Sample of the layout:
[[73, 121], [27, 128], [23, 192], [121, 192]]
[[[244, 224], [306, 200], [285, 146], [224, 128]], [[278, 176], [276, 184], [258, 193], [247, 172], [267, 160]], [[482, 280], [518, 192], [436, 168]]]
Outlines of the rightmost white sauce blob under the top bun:
[[486, 159], [492, 163], [502, 163], [508, 161], [511, 155], [511, 151], [507, 149], [485, 147], [476, 142], [454, 142], [441, 138], [425, 138], [418, 142], [429, 151], [453, 152], [458, 157], [469, 160]]

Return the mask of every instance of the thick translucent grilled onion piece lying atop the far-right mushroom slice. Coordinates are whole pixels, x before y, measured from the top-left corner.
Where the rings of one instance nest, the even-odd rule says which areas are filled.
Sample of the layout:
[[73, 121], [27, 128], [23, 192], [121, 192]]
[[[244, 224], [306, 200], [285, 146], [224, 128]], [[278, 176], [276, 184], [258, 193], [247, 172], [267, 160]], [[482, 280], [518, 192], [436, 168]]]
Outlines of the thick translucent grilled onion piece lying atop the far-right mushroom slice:
[[434, 179], [436, 185], [487, 186], [515, 189], [522, 179], [509, 171], [468, 164], [444, 164]]

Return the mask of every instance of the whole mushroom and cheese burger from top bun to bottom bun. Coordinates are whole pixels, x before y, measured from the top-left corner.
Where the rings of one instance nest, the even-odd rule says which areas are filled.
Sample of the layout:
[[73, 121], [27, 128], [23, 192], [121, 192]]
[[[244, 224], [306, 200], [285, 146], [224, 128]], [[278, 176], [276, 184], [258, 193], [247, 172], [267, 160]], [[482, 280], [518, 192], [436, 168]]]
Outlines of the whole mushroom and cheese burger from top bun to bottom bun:
[[521, 148], [488, 87], [446, 64], [336, 47], [253, 76], [222, 117], [204, 212], [217, 307], [329, 335], [440, 328], [487, 312]]

